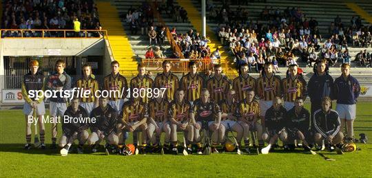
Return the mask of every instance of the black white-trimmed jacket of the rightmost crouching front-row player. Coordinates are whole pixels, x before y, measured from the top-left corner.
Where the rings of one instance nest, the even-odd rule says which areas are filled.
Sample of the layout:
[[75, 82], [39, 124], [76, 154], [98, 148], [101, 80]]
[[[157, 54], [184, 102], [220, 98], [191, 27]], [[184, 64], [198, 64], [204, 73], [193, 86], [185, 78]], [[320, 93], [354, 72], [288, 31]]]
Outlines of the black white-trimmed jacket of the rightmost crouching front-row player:
[[319, 109], [313, 115], [313, 124], [316, 131], [327, 138], [329, 135], [335, 136], [340, 131], [341, 122], [337, 111], [329, 109], [327, 113], [324, 113], [322, 109]]

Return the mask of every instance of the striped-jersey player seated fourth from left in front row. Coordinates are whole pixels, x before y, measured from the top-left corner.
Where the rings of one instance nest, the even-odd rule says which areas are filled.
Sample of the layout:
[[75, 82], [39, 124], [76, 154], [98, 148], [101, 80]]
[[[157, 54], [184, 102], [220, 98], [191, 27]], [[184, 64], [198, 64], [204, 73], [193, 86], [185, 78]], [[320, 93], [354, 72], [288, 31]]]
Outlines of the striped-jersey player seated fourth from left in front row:
[[[149, 122], [147, 127], [147, 134], [149, 140], [152, 142], [152, 150], [154, 152], [160, 151], [159, 146], [161, 141], [161, 133], [165, 133], [165, 147], [169, 146], [169, 137], [171, 128], [169, 126], [168, 115], [169, 102], [160, 95], [157, 98], [149, 101]], [[156, 131], [156, 136], [154, 135]]]

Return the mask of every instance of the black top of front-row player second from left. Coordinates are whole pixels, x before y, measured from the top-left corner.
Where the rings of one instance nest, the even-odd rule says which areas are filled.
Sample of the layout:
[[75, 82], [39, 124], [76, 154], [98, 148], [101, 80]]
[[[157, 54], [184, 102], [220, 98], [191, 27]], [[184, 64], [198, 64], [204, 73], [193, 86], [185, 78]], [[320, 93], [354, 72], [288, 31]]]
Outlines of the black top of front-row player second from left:
[[107, 104], [105, 111], [102, 111], [101, 107], [96, 107], [90, 113], [90, 118], [96, 118], [96, 122], [90, 124], [90, 131], [96, 132], [97, 130], [102, 131], [105, 135], [110, 135], [113, 131], [116, 131], [118, 124], [118, 117], [115, 109]]

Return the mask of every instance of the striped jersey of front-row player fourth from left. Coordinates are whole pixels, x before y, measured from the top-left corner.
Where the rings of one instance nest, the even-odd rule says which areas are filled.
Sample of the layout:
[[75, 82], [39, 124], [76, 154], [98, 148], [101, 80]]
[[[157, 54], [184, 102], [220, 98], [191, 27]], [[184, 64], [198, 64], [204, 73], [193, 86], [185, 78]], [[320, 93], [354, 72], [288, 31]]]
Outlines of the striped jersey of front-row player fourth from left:
[[168, 116], [169, 102], [162, 99], [158, 102], [156, 99], [149, 101], [149, 117], [156, 122], [163, 122]]

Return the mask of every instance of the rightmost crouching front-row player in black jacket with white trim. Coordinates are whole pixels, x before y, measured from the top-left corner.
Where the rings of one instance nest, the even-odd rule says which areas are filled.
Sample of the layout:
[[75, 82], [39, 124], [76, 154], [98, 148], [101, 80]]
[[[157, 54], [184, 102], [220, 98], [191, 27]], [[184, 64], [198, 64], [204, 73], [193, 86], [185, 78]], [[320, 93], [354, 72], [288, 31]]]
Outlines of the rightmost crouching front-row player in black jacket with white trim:
[[[337, 111], [330, 109], [331, 102], [331, 98], [324, 97], [322, 100], [322, 109], [315, 111], [313, 114], [313, 124], [316, 129], [314, 141], [318, 146], [323, 145], [325, 141], [329, 151], [334, 151], [337, 149], [334, 145], [341, 148], [344, 134], [340, 131], [341, 122]], [[323, 146], [321, 149], [323, 149]]]

